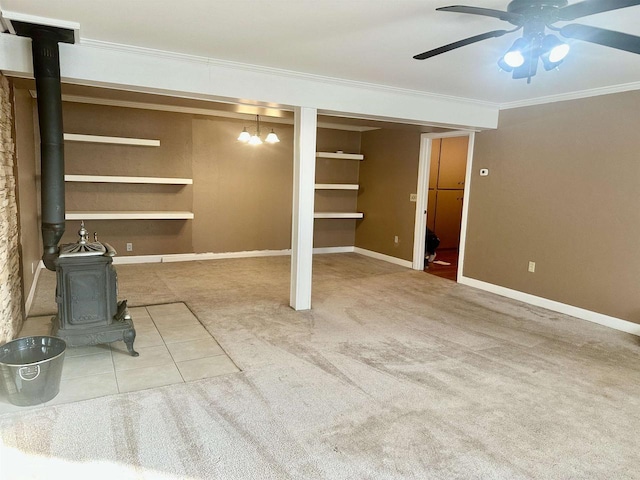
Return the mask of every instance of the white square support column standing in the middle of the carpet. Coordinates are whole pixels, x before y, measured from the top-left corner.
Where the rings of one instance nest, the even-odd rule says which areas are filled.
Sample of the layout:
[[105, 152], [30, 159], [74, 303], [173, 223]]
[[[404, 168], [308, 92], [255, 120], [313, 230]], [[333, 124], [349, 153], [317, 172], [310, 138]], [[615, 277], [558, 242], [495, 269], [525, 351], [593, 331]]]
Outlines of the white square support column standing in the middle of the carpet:
[[289, 297], [289, 305], [294, 310], [311, 309], [317, 122], [315, 108], [298, 107], [295, 109], [291, 293]]

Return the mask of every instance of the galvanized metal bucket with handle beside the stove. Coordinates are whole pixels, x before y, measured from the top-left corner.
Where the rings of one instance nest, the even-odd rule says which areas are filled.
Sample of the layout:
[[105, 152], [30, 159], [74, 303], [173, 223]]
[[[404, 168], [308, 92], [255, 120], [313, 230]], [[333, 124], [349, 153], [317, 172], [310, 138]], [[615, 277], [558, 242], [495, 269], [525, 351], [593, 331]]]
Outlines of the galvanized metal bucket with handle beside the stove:
[[0, 346], [0, 382], [14, 405], [38, 405], [60, 391], [67, 344], [58, 337], [22, 337]]

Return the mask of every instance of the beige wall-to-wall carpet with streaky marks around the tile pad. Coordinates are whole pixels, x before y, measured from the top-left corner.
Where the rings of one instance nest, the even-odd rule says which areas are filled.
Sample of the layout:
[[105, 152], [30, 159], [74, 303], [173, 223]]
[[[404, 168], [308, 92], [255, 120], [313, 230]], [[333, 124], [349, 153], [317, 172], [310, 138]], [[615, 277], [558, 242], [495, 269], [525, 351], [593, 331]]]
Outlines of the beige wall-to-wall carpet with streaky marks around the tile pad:
[[3, 479], [640, 478], [632, 335], [357, 254], [315, 257], [309, 312], [287, 257], [118, 275], [242, 372], [2, 416]]

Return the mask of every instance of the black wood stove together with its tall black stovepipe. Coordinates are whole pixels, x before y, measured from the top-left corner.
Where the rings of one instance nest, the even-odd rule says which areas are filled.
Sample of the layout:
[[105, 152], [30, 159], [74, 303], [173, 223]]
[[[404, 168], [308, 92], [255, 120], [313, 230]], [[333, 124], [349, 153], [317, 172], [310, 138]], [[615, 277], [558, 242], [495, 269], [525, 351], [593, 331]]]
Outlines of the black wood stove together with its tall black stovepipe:
[[124, 340], [129, 353], [136, 331], [127, 302], [118, 303], [115, 250], [87, 240], [84, 223], [78, 243], [58, 246], [65, 231], [64, 135], [58, 43], [75, 43], [73, 30], [21, 21], [18, 35], [31, 38], [40, 127], [42, 261], [57, 275], [58, 315], [52, 333], [71, 347]]

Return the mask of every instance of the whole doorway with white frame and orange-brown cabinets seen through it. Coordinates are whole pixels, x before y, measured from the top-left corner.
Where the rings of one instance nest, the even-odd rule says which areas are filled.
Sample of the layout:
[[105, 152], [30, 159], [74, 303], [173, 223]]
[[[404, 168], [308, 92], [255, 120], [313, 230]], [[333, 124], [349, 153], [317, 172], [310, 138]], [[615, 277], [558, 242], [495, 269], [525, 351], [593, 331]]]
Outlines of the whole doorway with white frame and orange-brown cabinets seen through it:
[[[462, 274], [473, 135], [424, 134], [420, 145], [413, 268], [453, 281]], [[427, 229], [440, 240], [435, 257]]]

